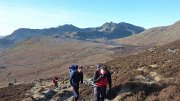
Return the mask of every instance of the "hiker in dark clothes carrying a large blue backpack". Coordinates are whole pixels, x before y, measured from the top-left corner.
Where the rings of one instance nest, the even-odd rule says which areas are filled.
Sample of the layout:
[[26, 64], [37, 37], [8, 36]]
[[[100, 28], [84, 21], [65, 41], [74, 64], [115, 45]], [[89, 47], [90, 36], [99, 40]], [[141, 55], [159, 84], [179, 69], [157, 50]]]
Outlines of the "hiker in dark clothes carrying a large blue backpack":
[[70, 85], [73, 90], [73, 101], [77, 101], [79, 98], [79, 83], [83, 83], [82, 67], [78, 65], [71, 65], [70, 67]]

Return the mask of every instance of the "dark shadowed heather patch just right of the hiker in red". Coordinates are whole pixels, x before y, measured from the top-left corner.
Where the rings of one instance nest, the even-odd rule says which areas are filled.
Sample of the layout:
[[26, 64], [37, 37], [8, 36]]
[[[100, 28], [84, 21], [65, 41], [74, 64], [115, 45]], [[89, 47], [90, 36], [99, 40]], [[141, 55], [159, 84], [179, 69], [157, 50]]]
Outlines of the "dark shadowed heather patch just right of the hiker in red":
[[119, 94], [125, 92], [131, 92], [131, 96], [138, 94], [139, 92], [144, 92], [143, 96], [146, 97], [152, 93], [160, 92], [162, 89], [166, 88], [168, 85], [163, 83], [140, 83], [140, 82], [128, 82], [123, 85], [115, 86], [107, 94], [108, 100], [115, 99]]

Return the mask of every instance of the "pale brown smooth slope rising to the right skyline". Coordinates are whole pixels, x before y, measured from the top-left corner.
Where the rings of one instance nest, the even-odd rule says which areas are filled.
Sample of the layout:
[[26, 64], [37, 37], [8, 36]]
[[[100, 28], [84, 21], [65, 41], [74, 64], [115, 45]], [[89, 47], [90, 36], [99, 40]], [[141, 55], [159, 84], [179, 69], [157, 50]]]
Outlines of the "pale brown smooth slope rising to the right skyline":
[[148, 29], [138, 35], [116, 40], [119, 43], [133, 45], [163, 45], [180, 39], [180, 21], [170, 26]]

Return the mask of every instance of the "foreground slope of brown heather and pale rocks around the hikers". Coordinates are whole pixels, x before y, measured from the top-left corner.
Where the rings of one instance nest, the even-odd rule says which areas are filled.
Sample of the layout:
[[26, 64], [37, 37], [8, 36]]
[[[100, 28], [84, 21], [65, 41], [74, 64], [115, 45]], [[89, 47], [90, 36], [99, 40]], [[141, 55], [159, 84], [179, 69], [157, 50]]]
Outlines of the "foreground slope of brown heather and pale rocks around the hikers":
[[[143, 53], [116, 58], [105, 64], [109, 66], [113, 81], [107, 101], [180, 99], [180, 40], [150, 48]], [[80, 87], [81, 100], [93, 100], [91, 78], [95, 69], [91, 65], [84, 66], [85, 81]], [[67, 75], [60, 76], [59, 88], [54, 88], [51, 78], [37, 80], [34, 86], [21, 84], [1, 88], [0, 98], [2, 101], [70, 101], [72, 93]]]

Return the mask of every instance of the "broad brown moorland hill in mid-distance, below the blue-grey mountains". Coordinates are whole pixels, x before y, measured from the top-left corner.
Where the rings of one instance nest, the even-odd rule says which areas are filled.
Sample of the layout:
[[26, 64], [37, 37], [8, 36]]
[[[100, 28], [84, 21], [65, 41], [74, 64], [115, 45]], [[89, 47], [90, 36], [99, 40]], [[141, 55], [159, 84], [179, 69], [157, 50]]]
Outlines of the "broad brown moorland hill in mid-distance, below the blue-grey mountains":
[[143, 48], [57, 36], [29, 39], [0, 53], [0, 86], [60, 75], [71, 63], [96, 64]]

